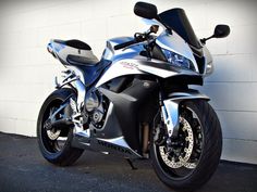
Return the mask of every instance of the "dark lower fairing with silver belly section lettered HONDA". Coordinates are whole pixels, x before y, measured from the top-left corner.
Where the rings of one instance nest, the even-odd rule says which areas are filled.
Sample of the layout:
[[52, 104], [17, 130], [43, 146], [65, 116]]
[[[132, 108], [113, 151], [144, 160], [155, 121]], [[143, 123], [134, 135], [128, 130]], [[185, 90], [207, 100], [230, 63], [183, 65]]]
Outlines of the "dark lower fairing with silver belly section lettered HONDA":
[[[192, 79], [197, 84], [203, 82], [199, 76], [186, 75], [167, 79], [128, 75], [109, 80], [97, 89], [110, 101], [105, 125], [100, 129], [90, 126], [90, 137], [78, 132], [76, 146], [108, 153], [118, 152], [125, 157], [142, 157], [142, 128], [144, 124], [151, 126], [158, 114], [159, 92], [166, 90], [163, 95], [167, 98], [171, 92], [186, 92], [187, 85], [193, 82]], [[122, 142], [114, 142], [118, 140]]]

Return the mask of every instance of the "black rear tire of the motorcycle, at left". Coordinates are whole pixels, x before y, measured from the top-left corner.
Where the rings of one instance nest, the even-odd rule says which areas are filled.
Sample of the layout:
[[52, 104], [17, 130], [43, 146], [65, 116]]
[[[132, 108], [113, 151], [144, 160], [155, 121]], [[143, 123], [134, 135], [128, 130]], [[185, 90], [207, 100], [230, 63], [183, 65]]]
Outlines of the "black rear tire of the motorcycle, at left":
[[[71, 145], [73, 139], [72, 128], [50, 130], [53, 135], [60, 131], [60, 136], [57, 139], [50, 139], [44, 125], [49, 117], [50, 111], [53, 111], [54, 107], [58, 108], [72, 94], [74, 94], [73, 90], [66, 88], [52, 92], [44, 102], [37, 120], [37, 139], [40, 152], [48, 162], [59, 166], [73, 164], [84, 150]], [[65, 139], [65, 141], [60, 141], [61, 144], [58, 143], [59, 137]]]

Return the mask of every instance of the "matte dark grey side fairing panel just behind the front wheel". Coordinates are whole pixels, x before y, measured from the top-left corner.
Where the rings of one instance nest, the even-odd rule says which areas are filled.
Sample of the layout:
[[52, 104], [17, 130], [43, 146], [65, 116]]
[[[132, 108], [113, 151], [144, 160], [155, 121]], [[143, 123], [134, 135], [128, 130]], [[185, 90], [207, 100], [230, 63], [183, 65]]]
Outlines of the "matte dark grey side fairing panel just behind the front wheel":
[[[144, 86], [146, 82], [148, 85], [147, 87]], [[140, 118], [142, 114], [145, 114], [142, 112], [143, 108], [145, 108], [145, 104], [147, 104], [147, 106], [151, 104], [148, 103], [150, 98], [154, 97], [154, 101], [158, 101], [158, 94], [155, 94], [157, 89], [157, 82], [138, 79], [134, 79], [130, 87], [119, 93], [110, 91], [106, 88], [99, 88], [99, 91], [113, 103], [113, 113], [117, 116], [125, 141], [131, 149], [139, 154], [142, 154], [139, 125], [143, 120]], [[155, 98], [155, 95], [157, 97]], [[150, 116], [150, 119], [152, 119], [154, 115], [156, 115], [156, 111], [152, 116], [150, 113], [147, 114]]]

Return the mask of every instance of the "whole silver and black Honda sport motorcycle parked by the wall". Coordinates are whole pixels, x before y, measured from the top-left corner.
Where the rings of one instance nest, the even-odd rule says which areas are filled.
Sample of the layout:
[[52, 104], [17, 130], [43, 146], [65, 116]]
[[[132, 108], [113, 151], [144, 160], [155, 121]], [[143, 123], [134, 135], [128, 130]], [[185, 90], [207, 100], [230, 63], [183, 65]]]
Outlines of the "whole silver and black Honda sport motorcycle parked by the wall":
[[137, 2], [134, 13], [151, 27], [109, 39], [100, 61], [83, 41], [50, 41], [48, 51], [66, 69], [38, 116], [40, 152], [60, 166], [84, 150], [125, 157], [132, 167], [150, 158], [170, 188], [199, 188], [217, 169], [222, 135], [209, 98], [189, 86], [213, 71], [206, 41], [230, 28], [218, 25], [199, 40], [182, 9], [158, 14], [154, 4]]

